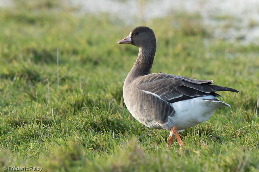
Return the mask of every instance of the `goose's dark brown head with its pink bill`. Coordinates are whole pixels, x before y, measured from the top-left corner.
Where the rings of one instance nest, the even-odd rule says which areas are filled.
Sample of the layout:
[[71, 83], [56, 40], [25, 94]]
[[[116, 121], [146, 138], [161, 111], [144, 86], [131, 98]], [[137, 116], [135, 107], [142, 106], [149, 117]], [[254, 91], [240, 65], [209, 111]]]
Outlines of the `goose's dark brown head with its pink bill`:
[[156, 37], [152, 29], [146, 26], [138, 26], [129, 33], [129, 36], [120, 40], [118, 43], [132, 44], [143, 48], [156, 44]]

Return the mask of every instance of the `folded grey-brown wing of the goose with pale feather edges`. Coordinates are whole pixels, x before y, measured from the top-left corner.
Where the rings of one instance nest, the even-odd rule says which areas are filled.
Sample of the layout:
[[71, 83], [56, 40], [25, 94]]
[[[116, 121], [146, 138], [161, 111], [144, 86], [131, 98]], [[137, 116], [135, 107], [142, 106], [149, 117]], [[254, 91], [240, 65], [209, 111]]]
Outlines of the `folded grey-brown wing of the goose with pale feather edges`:
[[166, 73], [153, 73], [136, 80], [139, 89], [155, 93], [169, 103], [209, 94], [215, 97], [220, 96], [214, 91], [239, 92], [232, 88], [220, 87], [211, 83], [213, 83], [212, 80], [196, 80]]

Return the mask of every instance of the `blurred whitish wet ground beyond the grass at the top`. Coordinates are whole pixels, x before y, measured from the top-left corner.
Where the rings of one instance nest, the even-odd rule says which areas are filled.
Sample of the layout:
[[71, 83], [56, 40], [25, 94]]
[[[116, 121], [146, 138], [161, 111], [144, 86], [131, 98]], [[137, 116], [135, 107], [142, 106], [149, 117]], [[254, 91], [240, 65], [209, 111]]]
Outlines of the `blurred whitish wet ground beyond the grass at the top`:
[[211, 30], [216, 38], [259, 43], [258, 0], [68, 0], [68, 3], [80, 4], [84, 13], [116, 15], [126, 24], [134, 24], [134, 19], [147, 20], [174, 12], [197, 13], [201, 16], [203, 27]]

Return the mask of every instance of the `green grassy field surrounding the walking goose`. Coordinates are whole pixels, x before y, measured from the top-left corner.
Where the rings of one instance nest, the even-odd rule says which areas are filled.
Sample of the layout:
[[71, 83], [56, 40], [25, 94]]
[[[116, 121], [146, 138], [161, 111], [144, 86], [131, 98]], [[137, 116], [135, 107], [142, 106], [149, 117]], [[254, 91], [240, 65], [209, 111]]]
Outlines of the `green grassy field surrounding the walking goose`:
[[[15, 1], [0, 13], [0, 171], [259, 171], [258, 45], [213, 38], [182, 13], [132, 25], [60, 1]], [[143, 126], [123, 103], [138, 48], [117, 42], [139, 25], [157, 37], [152, 73], [240, 91], [220, 93], [232, 107], [180, 134], [183, 151], [176, 140], [166, 150], [169, 132]]]

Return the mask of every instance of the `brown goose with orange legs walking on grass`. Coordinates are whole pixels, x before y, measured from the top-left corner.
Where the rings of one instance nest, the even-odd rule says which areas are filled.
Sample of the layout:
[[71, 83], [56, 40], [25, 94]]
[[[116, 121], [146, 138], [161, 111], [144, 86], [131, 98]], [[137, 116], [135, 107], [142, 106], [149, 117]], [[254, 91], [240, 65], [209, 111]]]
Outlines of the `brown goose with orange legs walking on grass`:
[[152, 73], [156, 37], [148, 27], [138, 26], [119, 44], [139, 47], [138, 58], [123, 85], [123, 98], [129, 112], [150, 128], [169, 130], [167, 148], [174, 137], [180, 148], [185, 145], [178, 132], [205, 122], [215, 110], [228, 106], [217, 99], [215, 91], [239, 92], [212, 85], [212, 80], [196, 80], [166, 73]]

